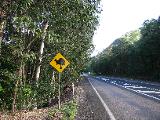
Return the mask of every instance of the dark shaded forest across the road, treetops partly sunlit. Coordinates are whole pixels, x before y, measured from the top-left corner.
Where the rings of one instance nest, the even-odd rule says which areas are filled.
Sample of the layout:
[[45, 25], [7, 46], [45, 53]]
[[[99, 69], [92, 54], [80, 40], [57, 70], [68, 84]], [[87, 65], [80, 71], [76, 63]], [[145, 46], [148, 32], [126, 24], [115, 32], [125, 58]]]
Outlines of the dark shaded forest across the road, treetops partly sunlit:
[[92, 58], [89, 70], [99, 75], [160, 81], [160, 17], [146, 20], [138, 30], [116, 39]]

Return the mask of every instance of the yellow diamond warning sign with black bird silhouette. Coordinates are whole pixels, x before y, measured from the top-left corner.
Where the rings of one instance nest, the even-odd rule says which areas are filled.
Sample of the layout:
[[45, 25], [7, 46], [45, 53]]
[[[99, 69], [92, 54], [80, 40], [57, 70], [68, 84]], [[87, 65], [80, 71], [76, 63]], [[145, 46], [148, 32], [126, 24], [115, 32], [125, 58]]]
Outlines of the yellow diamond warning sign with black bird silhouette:
[[58, 72], [63, 72], [63, 70], [69, 65], [69, 62], [61, 55], [61, 53], [58, 53], [50, 62], [50, 65]]

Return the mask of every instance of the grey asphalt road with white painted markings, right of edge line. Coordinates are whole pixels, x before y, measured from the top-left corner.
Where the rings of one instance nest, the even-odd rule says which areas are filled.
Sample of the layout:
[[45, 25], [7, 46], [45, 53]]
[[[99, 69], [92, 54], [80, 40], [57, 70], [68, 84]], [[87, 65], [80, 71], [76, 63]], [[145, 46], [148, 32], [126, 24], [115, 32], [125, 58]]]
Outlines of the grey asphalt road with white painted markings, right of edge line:
[[87, 77], [116, 120], [160, 120], [160, 85]]

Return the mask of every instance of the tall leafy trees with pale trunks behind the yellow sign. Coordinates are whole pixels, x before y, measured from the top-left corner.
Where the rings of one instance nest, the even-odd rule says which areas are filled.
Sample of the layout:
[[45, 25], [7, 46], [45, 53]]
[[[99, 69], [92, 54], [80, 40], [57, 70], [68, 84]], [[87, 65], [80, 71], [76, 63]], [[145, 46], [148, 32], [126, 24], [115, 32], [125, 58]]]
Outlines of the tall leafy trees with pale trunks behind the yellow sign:
[[0, 110], [41, 108], [58, 96], [60, 52], [70, 62], [62, 95], [76, 82], [94, 46], [100, 0], [1, 0]]

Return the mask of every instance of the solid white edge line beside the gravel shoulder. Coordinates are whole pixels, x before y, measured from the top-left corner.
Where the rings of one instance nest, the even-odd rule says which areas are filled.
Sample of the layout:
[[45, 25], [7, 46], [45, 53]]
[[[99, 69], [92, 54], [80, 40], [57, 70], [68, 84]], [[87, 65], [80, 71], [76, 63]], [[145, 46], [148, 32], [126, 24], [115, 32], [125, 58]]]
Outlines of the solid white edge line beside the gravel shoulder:
[[108, 106], [106, 105], [106, 103], [104, 102], [104, 100], [101, 98], [101, 96], [99, 95], [99, 93], [97, 92], [96, 88], [93, 86], [93, 84], [90, 82], [90, 80], [88, 79], [89, 83], [91, 84], [92, 88], [94, 89], [94, 91], [96, 92], [98, 98], [100, 99], [100, 101], [102, 102], [102, 105], [104, 106], [105, 110], [107, 111], [109, 117], [111, 120], [116, 120], [113, 113], [110, 111], [110, 109], [108, 108]]

